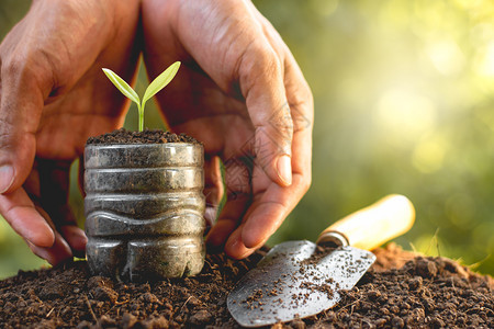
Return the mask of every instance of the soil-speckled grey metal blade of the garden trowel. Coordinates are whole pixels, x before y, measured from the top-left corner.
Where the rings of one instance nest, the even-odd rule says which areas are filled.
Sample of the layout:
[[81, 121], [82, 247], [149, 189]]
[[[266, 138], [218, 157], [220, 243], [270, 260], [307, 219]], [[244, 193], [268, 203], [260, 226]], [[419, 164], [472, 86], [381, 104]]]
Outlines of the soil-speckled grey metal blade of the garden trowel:
[[311, 241], [288, 241], [272, 248], [227, 297], [234, 319], [261, 327], [305, 318], [333, 307], [340, 290], [350, 290], [375, 261], [372, 252], [339, 247], [314, 257]]

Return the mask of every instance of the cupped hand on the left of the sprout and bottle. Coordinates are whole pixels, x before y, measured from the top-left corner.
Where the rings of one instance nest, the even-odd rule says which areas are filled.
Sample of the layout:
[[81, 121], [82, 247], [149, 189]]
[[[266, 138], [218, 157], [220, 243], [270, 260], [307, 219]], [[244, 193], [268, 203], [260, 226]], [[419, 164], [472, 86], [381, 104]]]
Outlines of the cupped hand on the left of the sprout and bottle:
[[52, 264], [83, 254], [69, 167], [89, 136], [123, 124], [101, 67], [134, 76], [138, 13], [139, 0], [33, 1], [0, 45], [0, 214]]

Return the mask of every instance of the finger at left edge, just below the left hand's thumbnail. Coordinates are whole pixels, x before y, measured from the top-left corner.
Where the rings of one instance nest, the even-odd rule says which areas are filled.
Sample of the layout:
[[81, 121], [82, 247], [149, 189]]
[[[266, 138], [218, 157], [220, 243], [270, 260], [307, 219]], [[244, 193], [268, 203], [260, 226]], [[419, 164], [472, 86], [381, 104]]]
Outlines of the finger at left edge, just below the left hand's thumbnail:
[[0, 213], [9, 225], [32, 245], [44, 248], [54, 245], [54, 230], [36, 211], [24, 189], [0, 195]]

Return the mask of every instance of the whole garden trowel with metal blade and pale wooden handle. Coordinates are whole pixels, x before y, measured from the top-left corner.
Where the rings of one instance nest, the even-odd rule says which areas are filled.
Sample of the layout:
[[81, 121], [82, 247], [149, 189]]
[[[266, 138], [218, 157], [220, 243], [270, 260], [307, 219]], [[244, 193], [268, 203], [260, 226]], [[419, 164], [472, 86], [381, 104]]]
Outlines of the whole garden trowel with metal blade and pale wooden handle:
[[394, 194], [329, 226], [316, 243], [277, 245], [231, 292], [228, 310], [239, 325], [261, 327], [328, 309], [372, 265], [368, 250], [404, 234], [414, 219], [408, 198]]

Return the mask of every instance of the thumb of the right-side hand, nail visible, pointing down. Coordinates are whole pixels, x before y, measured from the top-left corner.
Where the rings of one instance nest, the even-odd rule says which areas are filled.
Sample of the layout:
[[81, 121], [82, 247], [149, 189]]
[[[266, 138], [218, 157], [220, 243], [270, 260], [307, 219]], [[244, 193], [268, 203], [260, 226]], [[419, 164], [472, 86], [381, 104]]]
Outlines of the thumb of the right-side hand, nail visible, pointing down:
[[255, 126], [254, 154], [271, 181], [292, 183], [293, 120], [287, 102], [283, 68], [268, 43], [251, 44], [239, 75], [247, 110]]

